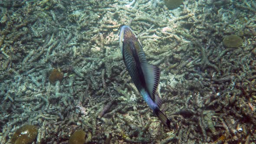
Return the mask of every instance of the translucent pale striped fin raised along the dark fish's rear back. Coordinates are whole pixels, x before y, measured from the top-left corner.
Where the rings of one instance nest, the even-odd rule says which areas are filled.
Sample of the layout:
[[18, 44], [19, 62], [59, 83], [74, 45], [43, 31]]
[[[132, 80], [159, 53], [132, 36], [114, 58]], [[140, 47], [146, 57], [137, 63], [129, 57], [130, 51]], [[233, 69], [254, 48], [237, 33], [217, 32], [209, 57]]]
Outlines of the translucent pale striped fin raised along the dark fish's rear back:
[[160, 80], [160, 69], [157, 66], [151, 65], [147, 62], [141, 63], [141, 69], [151, 99], [155, 104], [158, 105], [158, 108], [161, 108], [162, 101], [156, 92]]

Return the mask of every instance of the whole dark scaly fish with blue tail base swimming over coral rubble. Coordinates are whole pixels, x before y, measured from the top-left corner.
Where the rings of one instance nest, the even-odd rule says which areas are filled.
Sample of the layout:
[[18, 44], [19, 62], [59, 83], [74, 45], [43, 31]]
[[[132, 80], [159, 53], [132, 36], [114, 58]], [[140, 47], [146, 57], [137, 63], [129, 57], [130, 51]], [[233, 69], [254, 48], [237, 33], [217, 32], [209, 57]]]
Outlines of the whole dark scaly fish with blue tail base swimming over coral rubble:
[[147, 62], [141, 42], [129, 26], [121, 26], [119, 45], [125, 66], [136, 88], [154, 114], [170, 128], [170, 120], [160, 110], [162, 101], [156, 92], [160, 80], [160, 69]]

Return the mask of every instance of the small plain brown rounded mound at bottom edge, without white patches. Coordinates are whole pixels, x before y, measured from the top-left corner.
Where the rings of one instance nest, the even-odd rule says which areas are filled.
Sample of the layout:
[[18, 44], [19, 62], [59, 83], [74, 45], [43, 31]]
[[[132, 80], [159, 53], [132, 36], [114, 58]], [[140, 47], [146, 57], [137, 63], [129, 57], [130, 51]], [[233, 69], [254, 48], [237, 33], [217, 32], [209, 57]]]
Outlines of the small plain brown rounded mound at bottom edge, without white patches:
[[69, 138], [69, 144], [85, 144], [85, 131], [75, 131]]

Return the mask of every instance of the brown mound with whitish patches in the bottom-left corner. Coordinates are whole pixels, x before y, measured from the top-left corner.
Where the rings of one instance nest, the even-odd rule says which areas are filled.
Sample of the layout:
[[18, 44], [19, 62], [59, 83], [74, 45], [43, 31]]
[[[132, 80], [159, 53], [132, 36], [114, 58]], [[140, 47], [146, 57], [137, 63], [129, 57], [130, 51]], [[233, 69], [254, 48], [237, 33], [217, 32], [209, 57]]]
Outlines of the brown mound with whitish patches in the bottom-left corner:
[[31, 144], [38, 133], [38, 127], [34, 125], [24, 125], [17, 129], [11, 138], [12, 144]]

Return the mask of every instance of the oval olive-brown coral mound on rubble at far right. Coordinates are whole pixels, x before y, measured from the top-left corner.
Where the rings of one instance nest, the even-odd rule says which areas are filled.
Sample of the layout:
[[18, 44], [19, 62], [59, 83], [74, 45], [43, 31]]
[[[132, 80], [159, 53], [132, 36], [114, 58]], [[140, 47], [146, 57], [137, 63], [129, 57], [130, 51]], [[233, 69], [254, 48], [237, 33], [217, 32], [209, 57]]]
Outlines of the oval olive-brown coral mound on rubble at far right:
[[237, 48], [241, 46], [242, 43], [243, 43], [243, 39], [241, 39], [239, 36], [236, 36], [236, 35], [226, 36], [223, 39], [223, 45], [229, 48]]

